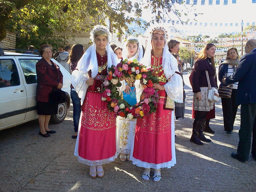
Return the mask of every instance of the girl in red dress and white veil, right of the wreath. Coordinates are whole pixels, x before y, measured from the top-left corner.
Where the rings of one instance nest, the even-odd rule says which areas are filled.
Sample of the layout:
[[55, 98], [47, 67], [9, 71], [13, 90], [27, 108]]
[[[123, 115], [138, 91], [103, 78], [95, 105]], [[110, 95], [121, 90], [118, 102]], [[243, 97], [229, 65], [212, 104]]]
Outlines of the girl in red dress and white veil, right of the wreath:
[[[146, 181], [150, 179], [150, 169], [153, 168], [153, 181], [158, 182], [161, 180], [160, 169], [176, 164], [174, 111], [167, 109], [164, 103], [167, 98], [172, 99], [169, 100], [172, 104], [174, 101], [183, 102], [183, 84], [177, 60], [168, 51], [166, 30], [155, 27], [150, 30], [149, 38], [151, 45], [148, 44], [141, 62], [151, 67], [158, 78], [159, 83], [155, 83], [153, 88], [158, 90], [160, 99], [156, 112], [137, 119], [131, 160], [145, 168], [142, 178]], [[136, 89], [140, 87], [136, 86]]]

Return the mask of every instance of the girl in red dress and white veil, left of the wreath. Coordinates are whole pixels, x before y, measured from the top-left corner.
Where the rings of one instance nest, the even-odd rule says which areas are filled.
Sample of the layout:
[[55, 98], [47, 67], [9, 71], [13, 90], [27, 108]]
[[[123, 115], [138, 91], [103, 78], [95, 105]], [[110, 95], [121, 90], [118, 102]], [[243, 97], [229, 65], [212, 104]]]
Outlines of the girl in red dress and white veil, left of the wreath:
[[105, 26], [94, 26], [90, 34], [93, 44], [72, 73], [72, 85], [82, 105], [74, 155], [90, 166], [91, 178], [102, 178], [102, 164], [114, 161], [118, 155], [116, 117], [108, 110], [107, 103], [101, 101], [107, 69], [116, 65], [118, 58], [110, 47], [111, 34]]

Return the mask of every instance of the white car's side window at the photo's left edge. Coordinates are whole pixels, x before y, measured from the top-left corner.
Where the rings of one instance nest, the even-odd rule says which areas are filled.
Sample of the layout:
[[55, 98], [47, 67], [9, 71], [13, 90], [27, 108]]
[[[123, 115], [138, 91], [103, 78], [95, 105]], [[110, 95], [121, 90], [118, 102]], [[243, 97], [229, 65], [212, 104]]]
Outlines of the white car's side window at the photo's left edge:
[[12, 59], [0, 60], [0, 88], [20, 85], [16, 64]]

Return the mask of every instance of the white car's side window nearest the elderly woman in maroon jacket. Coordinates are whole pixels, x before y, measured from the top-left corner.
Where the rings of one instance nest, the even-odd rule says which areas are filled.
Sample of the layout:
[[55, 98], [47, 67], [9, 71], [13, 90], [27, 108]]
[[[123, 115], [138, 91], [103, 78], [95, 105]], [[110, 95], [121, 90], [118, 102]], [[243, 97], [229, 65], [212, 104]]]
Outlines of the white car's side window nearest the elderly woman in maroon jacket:
[[25, 76], [27, 84], [32, 84], [37, 82], [36, 76], [36, 63], [37, 59], [20, 59], [20, 64]]

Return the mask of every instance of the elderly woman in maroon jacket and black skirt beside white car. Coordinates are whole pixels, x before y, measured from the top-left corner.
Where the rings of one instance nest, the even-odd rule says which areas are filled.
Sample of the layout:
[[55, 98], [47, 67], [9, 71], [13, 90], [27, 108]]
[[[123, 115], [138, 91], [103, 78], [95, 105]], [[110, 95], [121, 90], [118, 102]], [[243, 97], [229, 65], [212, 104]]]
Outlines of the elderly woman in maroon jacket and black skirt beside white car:
[[51, 115], [58, 113], [58, 104], [49, 103], [49, 94], [53, 89], [61, 89], [63, 86], [63, 75], [60, 67], [51, 61], [52, 46], [42, 45], [40, 47], [42, 59], [36, 63], [37, 74], [37, 114], [40, 125], [39, 134], [43, 137], [49, 137], [56, 131], [50, 130], [48, 124]]

